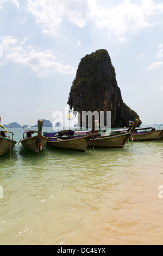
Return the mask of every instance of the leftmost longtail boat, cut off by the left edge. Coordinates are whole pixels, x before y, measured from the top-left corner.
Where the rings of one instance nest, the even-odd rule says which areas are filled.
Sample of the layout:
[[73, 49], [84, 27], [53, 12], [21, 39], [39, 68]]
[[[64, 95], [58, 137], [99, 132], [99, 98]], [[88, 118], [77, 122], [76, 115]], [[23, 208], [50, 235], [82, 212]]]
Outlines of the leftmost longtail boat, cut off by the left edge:
[[[0, 117], [1, 122], [1, 117]], [[11, 152], [11, 150], [15, 147], [15, 144], [17, 143], [14, 141], [13, 136], [14, 133], [8, 131], [4, 126], [0, 124], [0, 127], [4, 129], [3, 131], [0, 131], [0, 156]], [[12, 138], [10, 138], [10, 135], [12, 135]]]

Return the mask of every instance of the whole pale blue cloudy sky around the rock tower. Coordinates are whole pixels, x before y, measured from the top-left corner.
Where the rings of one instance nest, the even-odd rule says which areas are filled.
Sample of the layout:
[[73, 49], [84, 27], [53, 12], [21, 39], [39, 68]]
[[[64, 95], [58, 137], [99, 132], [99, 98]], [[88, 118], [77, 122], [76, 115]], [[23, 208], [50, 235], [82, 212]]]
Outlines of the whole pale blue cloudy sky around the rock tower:
[[80, 59], [106, 49], [123, 101], [163, 123], [162, 0], [0, 0], [1, 123], [53, 123]]

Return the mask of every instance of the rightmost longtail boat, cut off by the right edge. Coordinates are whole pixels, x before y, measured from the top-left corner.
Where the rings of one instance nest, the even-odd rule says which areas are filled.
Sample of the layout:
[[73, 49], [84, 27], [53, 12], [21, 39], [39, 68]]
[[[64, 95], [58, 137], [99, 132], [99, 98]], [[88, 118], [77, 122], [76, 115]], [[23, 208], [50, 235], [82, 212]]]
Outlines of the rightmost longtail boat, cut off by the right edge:
[[136, 128], [130, 140], [133, 141], [158, 141], [162, 136], [162, 130], [155, 130], [153, 127]]

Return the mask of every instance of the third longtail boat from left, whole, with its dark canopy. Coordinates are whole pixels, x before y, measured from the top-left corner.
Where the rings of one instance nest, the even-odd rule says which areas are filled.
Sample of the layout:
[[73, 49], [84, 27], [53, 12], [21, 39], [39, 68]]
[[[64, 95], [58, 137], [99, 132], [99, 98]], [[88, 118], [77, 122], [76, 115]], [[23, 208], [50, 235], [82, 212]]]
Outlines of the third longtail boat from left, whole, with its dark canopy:
[[77, 135], [72, 130], [62, 130], [56, 132], [45, 132], [43, 133], [49, 140], [47, 145], [55, 148], [70, 149], [84, 152], [90, 143], [92, 132], [88, 135]]

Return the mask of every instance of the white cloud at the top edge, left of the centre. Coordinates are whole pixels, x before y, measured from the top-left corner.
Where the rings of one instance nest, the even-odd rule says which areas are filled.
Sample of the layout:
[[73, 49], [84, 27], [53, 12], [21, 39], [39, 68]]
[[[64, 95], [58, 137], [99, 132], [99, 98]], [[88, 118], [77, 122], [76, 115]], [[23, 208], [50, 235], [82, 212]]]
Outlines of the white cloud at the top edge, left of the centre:
[[83, 28], [90, 20], [90, 3], [96, 0], [28, 0], [27, 9], [45, 34], [56, 35], [64, 19]]

